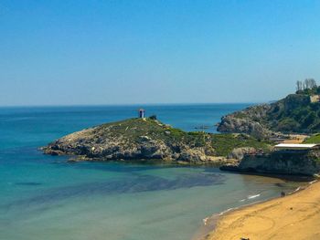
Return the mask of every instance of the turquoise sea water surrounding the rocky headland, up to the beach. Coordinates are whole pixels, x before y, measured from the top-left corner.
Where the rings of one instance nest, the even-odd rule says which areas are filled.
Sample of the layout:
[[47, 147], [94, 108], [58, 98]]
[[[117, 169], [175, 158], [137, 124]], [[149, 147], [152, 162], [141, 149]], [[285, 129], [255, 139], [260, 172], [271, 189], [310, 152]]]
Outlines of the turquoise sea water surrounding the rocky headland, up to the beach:
[[[183, 130], [249, 104], [145, 106]], [[69, 163], [37, 151], [74, 130], [134, 117], [138, 106], [0, 109], [0, 239], [191, 239], [202, 219], [297, 183], [213, 167]]]

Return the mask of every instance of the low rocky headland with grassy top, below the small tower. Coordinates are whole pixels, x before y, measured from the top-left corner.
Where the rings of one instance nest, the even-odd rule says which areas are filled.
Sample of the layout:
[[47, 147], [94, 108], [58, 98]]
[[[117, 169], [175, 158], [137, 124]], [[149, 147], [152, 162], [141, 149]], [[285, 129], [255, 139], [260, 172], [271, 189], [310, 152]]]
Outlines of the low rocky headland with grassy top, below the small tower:
[[186, 132], [150, 118], [102, 124], [71, 133], [42, 150], [72, 155], [76, 160], [163, 160], [174, 162], [237, 162], [246, 148], [270, 145], [246, 134]]

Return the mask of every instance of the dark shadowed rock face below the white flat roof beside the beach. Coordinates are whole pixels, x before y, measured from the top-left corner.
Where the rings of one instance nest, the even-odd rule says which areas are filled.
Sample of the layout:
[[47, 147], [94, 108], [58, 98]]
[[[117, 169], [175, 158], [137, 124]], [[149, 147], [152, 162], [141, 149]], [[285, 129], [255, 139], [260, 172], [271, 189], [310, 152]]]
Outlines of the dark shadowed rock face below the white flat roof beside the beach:
[[225, 170], [281, 174], [314, 175], [320, 172], [319, 151], [272, 151], [266, 155], [245, 155], [242, 161]]

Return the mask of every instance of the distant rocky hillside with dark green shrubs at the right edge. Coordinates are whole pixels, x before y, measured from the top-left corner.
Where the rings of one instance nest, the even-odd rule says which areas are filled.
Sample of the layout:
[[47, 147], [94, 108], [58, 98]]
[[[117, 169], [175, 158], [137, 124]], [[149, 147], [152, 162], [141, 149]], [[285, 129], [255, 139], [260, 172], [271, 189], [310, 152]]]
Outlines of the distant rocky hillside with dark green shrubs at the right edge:
[[265, 138], [272, 132], [320, 132], [320, 87], [299, 89], [295, 94], [270, 104], [253, 106], [224, 116], [218, 125], [221, 132], [248, 133]]

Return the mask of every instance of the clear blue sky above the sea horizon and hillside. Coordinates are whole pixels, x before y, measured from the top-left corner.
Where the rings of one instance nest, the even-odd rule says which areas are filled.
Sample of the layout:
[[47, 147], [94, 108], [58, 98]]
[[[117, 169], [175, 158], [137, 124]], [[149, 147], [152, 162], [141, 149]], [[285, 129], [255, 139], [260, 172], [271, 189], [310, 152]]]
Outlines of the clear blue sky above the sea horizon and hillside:
[[320, 1], [0, 0], [0, 105], [261, 102], [320, 83]]

